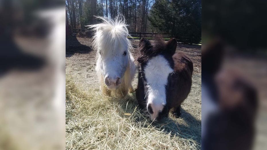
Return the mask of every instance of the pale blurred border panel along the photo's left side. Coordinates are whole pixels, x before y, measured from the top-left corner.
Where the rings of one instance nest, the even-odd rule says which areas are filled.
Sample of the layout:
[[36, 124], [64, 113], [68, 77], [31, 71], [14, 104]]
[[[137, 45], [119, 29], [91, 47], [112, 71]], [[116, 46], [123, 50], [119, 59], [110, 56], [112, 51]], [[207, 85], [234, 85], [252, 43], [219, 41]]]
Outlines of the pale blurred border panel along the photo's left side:
[[65, 1], [0, 1], [0, 149], [65, 149]]

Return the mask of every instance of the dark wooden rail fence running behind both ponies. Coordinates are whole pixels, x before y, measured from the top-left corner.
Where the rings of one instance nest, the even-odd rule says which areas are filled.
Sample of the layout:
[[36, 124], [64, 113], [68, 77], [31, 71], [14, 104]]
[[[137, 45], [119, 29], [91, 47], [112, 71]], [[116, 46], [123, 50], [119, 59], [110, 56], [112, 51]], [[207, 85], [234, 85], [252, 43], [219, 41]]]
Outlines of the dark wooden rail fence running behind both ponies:
[[[73, 33], [79, 33], [79, 32], [86, 32], [86, 31], [90, 31], [88, 29], [72, 29]], [[154, 37], [155, 35], [159, 35], [160, 37], [163, 38], [172, 38], [174, 37], [174, 35], [170, 35], [170, 34], [164, 34], [164, 33], [146, 33], [146, 32], [129, 32], [129, 34], [132, 37], [139, 37], [139, 40], [142, 37]], [[136, 39], [136, 38], [134, 38]], [[184, 42], [184, 43], [188, 43], [189, 39], [187, 37], [181, 37], [180, 39], [176, 39], [178, 42]]]

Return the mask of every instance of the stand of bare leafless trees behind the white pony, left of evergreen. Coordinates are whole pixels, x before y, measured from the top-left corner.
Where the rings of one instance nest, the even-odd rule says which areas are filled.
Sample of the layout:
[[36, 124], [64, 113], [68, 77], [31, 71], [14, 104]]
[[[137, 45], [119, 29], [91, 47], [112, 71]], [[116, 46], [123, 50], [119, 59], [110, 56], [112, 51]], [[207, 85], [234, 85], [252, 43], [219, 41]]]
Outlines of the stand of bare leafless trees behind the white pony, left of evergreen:
[[154, 0], [66, 0], [66, 10], [71, 28], [94, 24], [95, 15], [114, 19], [123, 14], [129, 31], [147, 32], [150, 29], [148, 14], [153, 3]]

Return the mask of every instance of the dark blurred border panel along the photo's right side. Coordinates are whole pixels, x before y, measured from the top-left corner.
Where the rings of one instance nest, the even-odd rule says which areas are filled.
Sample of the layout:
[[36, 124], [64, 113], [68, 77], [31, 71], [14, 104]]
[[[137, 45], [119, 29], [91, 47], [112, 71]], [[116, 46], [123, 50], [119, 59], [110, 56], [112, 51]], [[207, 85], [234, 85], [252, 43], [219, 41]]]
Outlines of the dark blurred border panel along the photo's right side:
[[265, 149], [267, 1], [202, 1], [202, 149]]

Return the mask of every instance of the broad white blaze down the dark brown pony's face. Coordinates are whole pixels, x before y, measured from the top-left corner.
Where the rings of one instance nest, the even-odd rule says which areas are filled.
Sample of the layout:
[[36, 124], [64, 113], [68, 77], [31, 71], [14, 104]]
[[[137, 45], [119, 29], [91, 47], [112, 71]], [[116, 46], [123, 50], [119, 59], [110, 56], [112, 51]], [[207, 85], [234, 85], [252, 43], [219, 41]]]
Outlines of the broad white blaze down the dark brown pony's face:
[[170, 68], [170, 64], [162, 55], [150, 59], [144, 68], [148, 84], [148, 93], [146, 95], [148, 96], [147, 107], [150, 104], [152, 108], [153, 114], [150, 114], [152, 121], [162, 111], [164, 105], [166, 105], [165, 85], [168, 82], [169, 74], [172, 72], [173, 69]]

